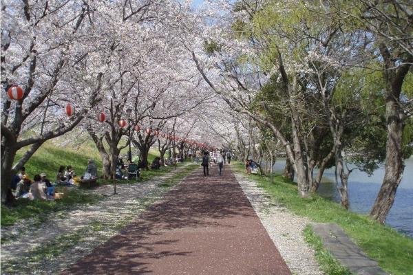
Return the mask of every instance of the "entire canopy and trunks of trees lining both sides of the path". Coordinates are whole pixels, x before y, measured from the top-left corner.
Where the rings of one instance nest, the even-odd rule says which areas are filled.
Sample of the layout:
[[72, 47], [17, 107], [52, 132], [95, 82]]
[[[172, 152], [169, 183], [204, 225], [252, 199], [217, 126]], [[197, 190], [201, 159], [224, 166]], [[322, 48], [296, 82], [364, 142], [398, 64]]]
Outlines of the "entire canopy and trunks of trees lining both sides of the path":
[[271, 163], [278, 148], [301, 197], [335, 166], [344, 208], [348, 164], [384, 162], [370, 212], [384, 223], [413, 151], [411, 3], [164, 2], [4, 1], [1, 85], [20, 96], [1, 93], [2, 201], [47, 140], [88, 133], [113, 179], [123, 148], [146, 167], [165, 131]]

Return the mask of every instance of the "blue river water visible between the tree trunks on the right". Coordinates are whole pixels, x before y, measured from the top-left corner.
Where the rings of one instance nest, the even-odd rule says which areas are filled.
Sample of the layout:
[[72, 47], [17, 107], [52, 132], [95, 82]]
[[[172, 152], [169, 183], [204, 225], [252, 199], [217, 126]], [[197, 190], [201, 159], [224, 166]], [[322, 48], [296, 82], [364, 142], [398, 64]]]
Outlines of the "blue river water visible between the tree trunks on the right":
[[[285, 159], [278, 159], [274, 165], [275, 173], [281, 173], [284, 169]], [[335, 186], [335, 168], [324, 172], [321, 180], [319, 194], [322, 197], [340, 202], [339, 193]], [[353, 170], [348, 179], [348, 196], [350, 198], [350, 210], [353, 212], [368, 214], [376, 199], [384, 176], [384, 167], [374, 171], [371, 177], [359, 170]], [[405, 160], [405, 170], [396, 199], [386, 224], [397, 231], [413, 238], [413, 159]]]

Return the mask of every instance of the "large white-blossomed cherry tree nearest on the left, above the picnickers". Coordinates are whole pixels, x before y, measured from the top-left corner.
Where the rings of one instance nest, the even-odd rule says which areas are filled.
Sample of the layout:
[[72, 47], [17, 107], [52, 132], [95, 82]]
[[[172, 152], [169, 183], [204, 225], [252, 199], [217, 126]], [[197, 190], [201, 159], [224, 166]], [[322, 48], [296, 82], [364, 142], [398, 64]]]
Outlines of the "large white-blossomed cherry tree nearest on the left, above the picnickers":
[[[85, 61], [104, 46], [92, 39], [91, 12], [85, 1], [2, 2], [2, 201], [10, 194], [12, 175], [41, 144], [71, 131], [96, 104], [105, 68]], [[21, 100], [4, 93], [15, 84], [23, 89]], [[76, 110], [70, 118], [63, 111], [67, 103]], [[30, 148], [16, 162], [25, 146]]]

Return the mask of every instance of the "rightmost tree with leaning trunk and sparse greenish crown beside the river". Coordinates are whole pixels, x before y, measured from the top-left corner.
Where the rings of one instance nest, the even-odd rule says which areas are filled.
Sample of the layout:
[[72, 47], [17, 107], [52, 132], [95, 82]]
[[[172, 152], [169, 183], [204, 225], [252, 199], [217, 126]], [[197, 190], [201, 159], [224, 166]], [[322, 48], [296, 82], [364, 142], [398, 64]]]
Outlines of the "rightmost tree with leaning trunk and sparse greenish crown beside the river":
[[329, 4], [343, 15], [348, 25], [374, 37], [380, 53], [377, 60], [382, 62], [385, 80], [387, 128], [385, 175], [370, 216], [384, 223], [403, 176], [404, 159], [410, 156], [406, 145], [412, 142], [412, 137], [403, 138], [403, 133], [406, 135], [405, 125], [411, 123], [412, 114], [413, 6], [411, 1], [403, 0], [348, 1], [345, 5], [329, 1]]

